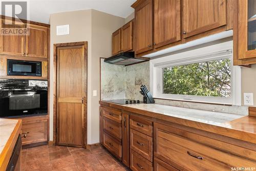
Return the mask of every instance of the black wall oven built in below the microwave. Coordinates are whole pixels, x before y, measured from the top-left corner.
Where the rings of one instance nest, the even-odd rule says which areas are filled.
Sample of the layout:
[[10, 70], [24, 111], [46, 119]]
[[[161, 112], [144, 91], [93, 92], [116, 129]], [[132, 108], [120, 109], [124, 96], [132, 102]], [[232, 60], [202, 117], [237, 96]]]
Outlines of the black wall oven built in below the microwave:
[[45, 80], [1, 80], [0, 117], [46, 115], [47, 95]]

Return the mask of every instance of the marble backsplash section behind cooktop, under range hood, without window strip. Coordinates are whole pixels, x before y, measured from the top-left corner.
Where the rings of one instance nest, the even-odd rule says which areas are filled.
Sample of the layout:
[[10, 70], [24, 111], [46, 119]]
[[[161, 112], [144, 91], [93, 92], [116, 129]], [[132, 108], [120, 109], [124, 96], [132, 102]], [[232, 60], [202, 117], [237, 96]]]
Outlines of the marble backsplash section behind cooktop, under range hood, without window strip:
[[143, 101], [140, 86], [150, 85], [150, 62], [132, 66], [112, 65], [101, 59], [101, 100], [132, 99]]

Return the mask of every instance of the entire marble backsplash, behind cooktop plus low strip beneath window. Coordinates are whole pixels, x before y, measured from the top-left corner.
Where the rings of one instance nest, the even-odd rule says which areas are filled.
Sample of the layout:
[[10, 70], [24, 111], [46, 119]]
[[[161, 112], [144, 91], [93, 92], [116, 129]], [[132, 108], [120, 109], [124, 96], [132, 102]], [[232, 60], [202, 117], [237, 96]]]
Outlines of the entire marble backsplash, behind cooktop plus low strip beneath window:
[[[143, 96], [139, 93], [142, 84], [150, 89], [150, 62], [124, 67], [106, 63], [101, 59], [101, 100], [126, 98], [143, 101]], [[214, 105], [165, 99], [155, 99], [155, 102], [189, 109], [248, 115], [247, 106]]]

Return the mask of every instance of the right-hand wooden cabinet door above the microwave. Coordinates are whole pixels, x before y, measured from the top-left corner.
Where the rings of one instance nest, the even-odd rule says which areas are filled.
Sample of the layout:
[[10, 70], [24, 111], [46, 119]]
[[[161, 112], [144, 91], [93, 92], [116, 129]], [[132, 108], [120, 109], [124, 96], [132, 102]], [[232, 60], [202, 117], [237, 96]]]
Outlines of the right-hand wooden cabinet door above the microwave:
[[48, 57], [48, 29], [46, 27], [29, 25], [26, 35], [26, 56]]

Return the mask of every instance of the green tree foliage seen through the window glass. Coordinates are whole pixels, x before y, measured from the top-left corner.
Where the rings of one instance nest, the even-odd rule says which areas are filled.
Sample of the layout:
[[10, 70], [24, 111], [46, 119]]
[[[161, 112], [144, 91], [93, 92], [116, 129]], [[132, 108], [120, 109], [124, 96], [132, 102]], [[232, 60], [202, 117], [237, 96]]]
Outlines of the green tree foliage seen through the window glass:
[[163, 69], [163, 93], [229, 97], [230, 59], [193, 63]]

